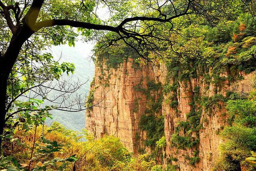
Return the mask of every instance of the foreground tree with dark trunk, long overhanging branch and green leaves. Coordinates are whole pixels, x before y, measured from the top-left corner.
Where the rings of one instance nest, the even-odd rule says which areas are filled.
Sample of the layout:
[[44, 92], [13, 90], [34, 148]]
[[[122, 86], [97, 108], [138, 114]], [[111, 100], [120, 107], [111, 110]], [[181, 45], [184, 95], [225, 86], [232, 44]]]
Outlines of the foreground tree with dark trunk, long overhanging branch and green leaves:
[[[28, 47], [40, 52], [45, 46], [66, 42], [74, 46], [78, 34], [95, 38], [98, 35], [104, 37], [107, 31], [112, 32], [104, 39], [108, 40], [108, 45], [123, 41], [148, 60], [146, 52], [158, 49], [157, 41], [175, 43], [161, 36], [177, 32], [172, 27], [172, 20], [190, 14], [218, 20], [220, 17], [216, 16], [221, 16], [222, 7], [227, 4], [230, 3], [226, 0], [0, 0], [0, 135], [10, 115], [28, 111], [26, 105], [10, 111], [16, 97], [8, 91], [8, 87], [15, 88], [10, 80], [16, 63], [26, 64], [34, 59], [33, 55], [27, 54]], [[97, 10], [102, 6], [110, 10], [108, 21], [98, 17]], [[234, 10], [230, 8], [228, 12]], [[74, 27], [78, 28], [78, 33]], [[168, 32], [163, 34], [166, 27]], [[23, 57], [19, 58], [21, 55]], [[47, 57], [43, 58], [50, 62]], [[60, 68], [72, 72], [72, 66], [68, 64]], [[19, 91], [19, 95], [24, 92]], [[1, 141], [0, 137], [0, 145]]]

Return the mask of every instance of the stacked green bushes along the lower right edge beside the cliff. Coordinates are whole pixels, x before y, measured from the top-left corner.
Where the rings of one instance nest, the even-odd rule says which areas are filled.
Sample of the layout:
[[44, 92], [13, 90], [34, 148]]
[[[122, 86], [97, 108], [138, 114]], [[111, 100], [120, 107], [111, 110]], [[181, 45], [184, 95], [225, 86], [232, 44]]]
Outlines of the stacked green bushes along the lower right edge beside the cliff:
[[[227, 170], [240, 167], [253, 170], [245, 159], [250, 156], [250, 151], [256, 150], [254, 99], [229, 100], [226, 108], [234, 123], [224, 127], [220, 133], [225, 143], [220, 146], [221, 155], [217, 166]], [[253, 163], [253, 157], [247, 161]]]

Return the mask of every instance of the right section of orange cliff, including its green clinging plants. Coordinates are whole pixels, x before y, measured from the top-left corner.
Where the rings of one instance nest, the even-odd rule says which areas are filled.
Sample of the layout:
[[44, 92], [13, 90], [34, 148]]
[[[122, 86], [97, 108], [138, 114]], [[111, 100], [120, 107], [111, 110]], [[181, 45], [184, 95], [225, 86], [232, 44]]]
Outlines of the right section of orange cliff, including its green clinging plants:
[[[211, 73], [204, 74], [211, 76]], [[176, 89], [165, 93], [162, 105], [165, 158], [182, 171], [210, 171], [222, 142], [218, 133], [226, 125], [224, 98], [229, 86], [228, 73], [223, 73], [219, 86], [200, 76], [199, 70], [194, 78], [185, 80], [171, 79], [166, 83]], [[170, 96], [172, 101], [166, 100]], [[175, 106], [171, 105], [174, 100]]]

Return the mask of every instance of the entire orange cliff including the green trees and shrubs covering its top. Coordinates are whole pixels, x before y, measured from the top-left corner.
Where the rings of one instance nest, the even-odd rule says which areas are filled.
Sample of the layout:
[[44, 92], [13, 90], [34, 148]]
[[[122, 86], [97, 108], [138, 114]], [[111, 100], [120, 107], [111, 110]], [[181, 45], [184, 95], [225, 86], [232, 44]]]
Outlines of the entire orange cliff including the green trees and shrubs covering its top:
[[226, 102], [244, 98], [232, 85], [256, 68], [255, 26], [246, 22], [180, 28], [186, 40], [172, 34], [177, 44], [148, 54], [154, 64], [140, 61], [126, 46], [103, 52], [95, 62], [86, 128], [96, 138], [115, 135], [130, 151], [148, 152], [164, 167], [244, 170], [248, 155], [223, 156], [219, 134], [234, 121]]

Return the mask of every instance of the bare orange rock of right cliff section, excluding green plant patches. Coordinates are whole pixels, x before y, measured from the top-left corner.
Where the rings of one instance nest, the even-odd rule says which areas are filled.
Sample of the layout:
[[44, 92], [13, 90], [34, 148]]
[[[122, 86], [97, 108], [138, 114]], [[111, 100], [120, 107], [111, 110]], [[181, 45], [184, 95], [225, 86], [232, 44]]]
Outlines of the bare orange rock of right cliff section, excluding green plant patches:
[[[209, 73], [210, 74], [210, 73]], [[218, 146], [222, 143], [218, 132], [226, 125], [226, 109], [224, 102], [220, 99], [212, 101], [212, 104], [203, 107], [202, 104], [195, 101], [195, 97], [207, 97], [210, 101], [216, 95], [226, 96], [229, 86], [227, 73], [222, 76], [226, 78], [220, 87], [216, 87], [212, 83], [207, 84], [202, 76], [197, 74], [196, 78], [189, 78], [187, 82], [178, 82], [177, 110], [170, 105], [163, 103], [162, 112], [165, 116], [165, 136], [166, 136], [166, 158], [172, 159], [172, 165], [178, 165], [181, 171], [210, 171], [214, 167], [214, 162], [218, 158]], [[173, 84], [171, 80], [170, 85]], [[164, 99], [169, 94], [164, 95]], [[210, 99], [209, 99], [210, 98]], [[220, 101], [219, 101], [220, 100]], [[194, 106], [192, 106], [192, 103]], [[175, 128], [183, 121], [188, 121], [187, 115], [192, 111], [200, 112], [200, 124], [197, 128], [198, 132], [190, 133], [192, 139], [198, 139], [199, 142], [194, 147], [185, 147], [177, 149], [171, 144], [172, 135]], [[197, 119], [197, 118], [196, 118]], [[186, 137], [188, 133], [184, 133], [181, 128], [179, 135]], [[197, 135], [196, 135], [197, 134]], [[198, 157], [198, 158], [197, 158]], [[193, 163], [195, 162], [195, 163]]]

